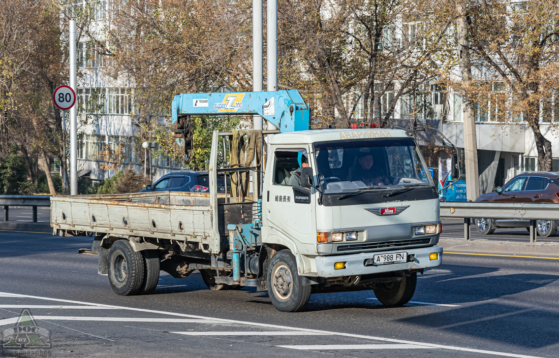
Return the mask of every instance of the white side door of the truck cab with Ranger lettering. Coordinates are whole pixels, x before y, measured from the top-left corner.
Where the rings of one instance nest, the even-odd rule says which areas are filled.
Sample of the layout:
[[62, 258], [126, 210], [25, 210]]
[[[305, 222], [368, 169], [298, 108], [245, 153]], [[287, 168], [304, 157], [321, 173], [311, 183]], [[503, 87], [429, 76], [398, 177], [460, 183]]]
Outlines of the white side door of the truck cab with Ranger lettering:
[[[300, 247], [316, 246], [314, 202], [309, 189], [300, 186], [300, 168], [310, 166], [305, 148], [277, 148], [273, 152], [272, 175], [267, 176], [266, 200], [268, 225], [285, 233]], [[304, 254], [305, 249], [301, 250]]]

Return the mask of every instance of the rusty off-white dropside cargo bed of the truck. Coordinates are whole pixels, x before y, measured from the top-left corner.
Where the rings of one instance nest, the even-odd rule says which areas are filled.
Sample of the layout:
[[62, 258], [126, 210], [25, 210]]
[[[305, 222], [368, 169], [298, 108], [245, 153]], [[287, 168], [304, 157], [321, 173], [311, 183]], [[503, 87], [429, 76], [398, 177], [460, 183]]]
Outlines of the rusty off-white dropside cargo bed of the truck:
[[[225, 194], [217, 195], [220, 235], [226, 221], [238, 221]], [[225, 209], [228, 206], [229, 209]], [[227, 212], [227, 215], [224, 215]], [[221, 225], [224, 223], [224, 225]], [[120, 195], [66, 195], [51, 197], [54, 231], [113, 233], [201, 242], [212, 236], [210, 194], [186, 192], [132, 193]], [[218, 238], [219, 240], [219, 238]]]

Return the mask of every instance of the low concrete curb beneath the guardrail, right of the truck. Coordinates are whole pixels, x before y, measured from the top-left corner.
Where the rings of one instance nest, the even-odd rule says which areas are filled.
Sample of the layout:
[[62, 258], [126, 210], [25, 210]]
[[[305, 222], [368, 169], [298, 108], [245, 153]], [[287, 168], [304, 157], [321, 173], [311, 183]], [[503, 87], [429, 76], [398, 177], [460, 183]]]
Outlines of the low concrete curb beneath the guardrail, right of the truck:
[[514, 242], [514, 241], [477, 241], [452, 240], [441, 238], [439, 246], [443, 252], [464, 254], [524, 255], [539, 257], [559, 257], [559, 242]]

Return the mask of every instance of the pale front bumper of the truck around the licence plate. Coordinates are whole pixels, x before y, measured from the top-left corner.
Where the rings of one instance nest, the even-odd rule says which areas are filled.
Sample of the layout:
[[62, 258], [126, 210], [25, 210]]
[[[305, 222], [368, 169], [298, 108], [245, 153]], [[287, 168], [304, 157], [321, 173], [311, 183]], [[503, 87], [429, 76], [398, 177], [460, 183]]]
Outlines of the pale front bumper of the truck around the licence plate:
[[[414, 255], [414, 260], [401, 264], [387, 264], [365, 266], [368, 259], [378, 254], [392, 254], [394, 252], [408, 252], [408, 257]], [[429, 254], [437, 252], [437, 260], [429, 260]], [[383, 272], [420, 270], [440, 266], [442, 264], [443, 248], [441, 246], [424, 247], [421, 249], [402, 249], [390, 251], [365, 252], [363, 254], [318, 256], [316, 257], [316, 271], [319, 277], [333, 278], [340, 276], [368, 275]], [[345, 269], [335, 270], [334, 263], [345, 261]]]

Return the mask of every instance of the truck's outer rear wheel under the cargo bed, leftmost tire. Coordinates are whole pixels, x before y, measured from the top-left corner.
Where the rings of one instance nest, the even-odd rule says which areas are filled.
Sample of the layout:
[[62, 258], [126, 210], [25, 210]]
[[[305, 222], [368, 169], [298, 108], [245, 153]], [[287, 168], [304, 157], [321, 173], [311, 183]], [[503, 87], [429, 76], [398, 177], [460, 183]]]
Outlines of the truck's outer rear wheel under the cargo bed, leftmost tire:
[[140, 252], [132, 250], [126, 240], [118, 240], [108, 252], [108, 281], [121, 296], [140, 292], [144, 282], [145, 262]]

